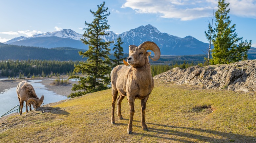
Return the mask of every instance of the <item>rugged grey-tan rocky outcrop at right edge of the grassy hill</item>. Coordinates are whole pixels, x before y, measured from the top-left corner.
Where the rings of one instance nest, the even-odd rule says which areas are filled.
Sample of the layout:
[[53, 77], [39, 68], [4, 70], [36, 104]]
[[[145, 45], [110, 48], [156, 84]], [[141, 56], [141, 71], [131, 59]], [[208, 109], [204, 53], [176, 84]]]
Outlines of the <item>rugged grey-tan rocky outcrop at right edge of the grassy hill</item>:
[[206, 67], [174, 68], [154, 76], [165, 82], [196, 85], [206, 89], [256, 90], [256, 60]]

